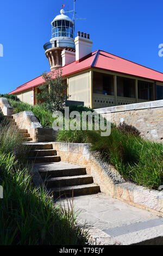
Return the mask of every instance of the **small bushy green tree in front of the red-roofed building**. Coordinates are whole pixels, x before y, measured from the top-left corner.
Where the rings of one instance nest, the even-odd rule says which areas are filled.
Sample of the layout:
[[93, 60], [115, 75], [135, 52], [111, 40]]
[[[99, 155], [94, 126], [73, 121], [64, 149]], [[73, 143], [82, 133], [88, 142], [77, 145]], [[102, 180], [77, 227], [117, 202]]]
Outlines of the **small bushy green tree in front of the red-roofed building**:
[[39, 103], [43, 103], [50, 111], [61, 111], [68, 99], [67, 83], [62, 78], [62, 71], [56, 70], [50, 74], [43, 73], [45, 83], [39, 86], [40, 93], [37, 94]]

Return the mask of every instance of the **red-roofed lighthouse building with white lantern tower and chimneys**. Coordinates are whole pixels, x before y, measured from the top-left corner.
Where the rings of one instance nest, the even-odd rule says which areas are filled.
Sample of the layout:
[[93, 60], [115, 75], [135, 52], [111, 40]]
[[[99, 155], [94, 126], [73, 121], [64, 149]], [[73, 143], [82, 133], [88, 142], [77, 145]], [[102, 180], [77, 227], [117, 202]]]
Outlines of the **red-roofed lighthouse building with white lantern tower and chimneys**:
[[[44, 45], [51, 72], [62, 70], [68, 100], [82, 101], [91, 108], [126, 105], [163, 99], [163, 74], [111, 53], [92, 52], [90, 35], [73, 36], [74, 22], [64, 10], [52, 21], [52, 39]], [[42, 76], [17, 87], [9, 94], [37, 104]]]

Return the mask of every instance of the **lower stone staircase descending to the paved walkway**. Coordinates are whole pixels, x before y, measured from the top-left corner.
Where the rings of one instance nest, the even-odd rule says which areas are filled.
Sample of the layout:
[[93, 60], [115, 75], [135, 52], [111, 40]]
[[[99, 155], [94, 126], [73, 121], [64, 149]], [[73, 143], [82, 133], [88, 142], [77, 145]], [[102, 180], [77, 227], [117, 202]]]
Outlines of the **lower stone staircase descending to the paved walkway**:
[[31, 145], [29, 160], [54, 198], [71, 197], [100, 192], [93, 178], [86, 174], [84, 167], [62, 162], [50, 143], [27, 143]]

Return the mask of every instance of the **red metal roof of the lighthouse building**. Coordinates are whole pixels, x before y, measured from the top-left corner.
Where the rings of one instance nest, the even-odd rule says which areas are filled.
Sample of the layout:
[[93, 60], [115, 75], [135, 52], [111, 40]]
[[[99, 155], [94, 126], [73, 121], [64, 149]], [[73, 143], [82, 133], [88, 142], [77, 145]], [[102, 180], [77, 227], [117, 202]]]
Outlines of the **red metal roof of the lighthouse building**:
[[[131, 62], [130, 60], [123, 59], [121, 57], [101, 50], [92, 52], [91, 54], [89, 54], [89, 56], [86, 56], [78, 63], [72, 62], [61, 67], [60, 69], [62, 70], [62, 76], [68, 76], [89, 68], [108, 70], [121, 74], [127, 74], [131, 76], [163, 82], [163, 73], [146, 68], [145, 66], [139, 65], [137, 63]], [[39, 86], [43, 82], [45, 81], [43, 80], [42, 76], [36, 77], [32, 81], [29, 81], [26, 84], [17, 87], [16, 90], [13, 90], [9, 94], [20, 93], [24, 90]]]

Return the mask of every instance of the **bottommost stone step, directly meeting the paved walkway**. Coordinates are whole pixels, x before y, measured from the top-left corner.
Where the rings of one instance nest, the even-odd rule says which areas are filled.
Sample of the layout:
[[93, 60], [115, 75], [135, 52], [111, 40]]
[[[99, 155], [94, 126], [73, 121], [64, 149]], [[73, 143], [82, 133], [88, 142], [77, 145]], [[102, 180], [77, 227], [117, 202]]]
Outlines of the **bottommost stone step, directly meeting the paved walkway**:
[[85, 194], [97, 194], [100, 192], [100, 188], [96, 184], [87, 184], [79, 186], [68, 186], [61, 188], [51, 188], [49, 189], [50, 193], [53, 193], [54, 198], [57, 197], [72, 197]]

